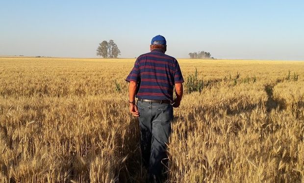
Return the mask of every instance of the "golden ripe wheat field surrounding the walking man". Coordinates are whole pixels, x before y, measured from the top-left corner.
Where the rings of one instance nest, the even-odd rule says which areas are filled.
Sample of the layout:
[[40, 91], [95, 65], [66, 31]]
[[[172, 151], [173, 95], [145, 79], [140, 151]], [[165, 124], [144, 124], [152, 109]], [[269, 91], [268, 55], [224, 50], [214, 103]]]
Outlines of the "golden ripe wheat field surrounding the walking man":
[[[134, 61], [0, 58], [0, 182], [144, 182]], [[178, 62], [168, 182], [304, 182], [304, 61]]]

